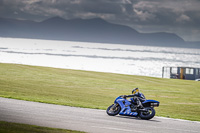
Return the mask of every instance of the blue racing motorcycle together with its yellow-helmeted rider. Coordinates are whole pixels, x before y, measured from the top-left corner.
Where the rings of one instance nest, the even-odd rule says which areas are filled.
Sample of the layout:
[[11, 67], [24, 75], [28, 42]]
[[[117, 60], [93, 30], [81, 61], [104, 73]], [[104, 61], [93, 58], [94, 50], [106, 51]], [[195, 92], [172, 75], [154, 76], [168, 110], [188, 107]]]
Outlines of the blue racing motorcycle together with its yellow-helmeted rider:
[[[130, 99], [127, 99], [131, 97]], [[139, 92], [138, 88], [132, 91], [132, 95], [121, 95], [117, 97], [114, 104], [106, 110], [110, 116], [125, 115], [140, 117], [149, 120], [155, 116], [154, 107], [158, 107], [160, 102], [156, 100], [147, 100], [145, 96]]]

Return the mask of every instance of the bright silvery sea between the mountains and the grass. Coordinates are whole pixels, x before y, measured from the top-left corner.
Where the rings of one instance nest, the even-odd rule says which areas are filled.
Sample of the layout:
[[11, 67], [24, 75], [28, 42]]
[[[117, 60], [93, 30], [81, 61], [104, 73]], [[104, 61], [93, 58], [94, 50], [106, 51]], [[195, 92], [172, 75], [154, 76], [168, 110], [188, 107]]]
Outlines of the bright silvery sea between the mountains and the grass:
[[161, 78], [164, 66], [200, 68], [200, 49], [0, 38], [0, 63]]

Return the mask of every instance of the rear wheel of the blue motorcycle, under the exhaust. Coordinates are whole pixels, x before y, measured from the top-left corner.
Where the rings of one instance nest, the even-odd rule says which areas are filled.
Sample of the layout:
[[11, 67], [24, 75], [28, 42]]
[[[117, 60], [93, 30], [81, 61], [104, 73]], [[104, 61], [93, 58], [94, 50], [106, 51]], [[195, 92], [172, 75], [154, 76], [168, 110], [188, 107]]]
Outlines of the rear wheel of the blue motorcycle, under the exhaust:
[[141, 119], [144, 119], [144, 120], [149, 120], [151, 118], [153, 118], [156, 114], [156, 111], [154, 108], [152, 107], [145, 107], [144, 108], [146, 111], [141, 111], [139, 113], [139, 116]]

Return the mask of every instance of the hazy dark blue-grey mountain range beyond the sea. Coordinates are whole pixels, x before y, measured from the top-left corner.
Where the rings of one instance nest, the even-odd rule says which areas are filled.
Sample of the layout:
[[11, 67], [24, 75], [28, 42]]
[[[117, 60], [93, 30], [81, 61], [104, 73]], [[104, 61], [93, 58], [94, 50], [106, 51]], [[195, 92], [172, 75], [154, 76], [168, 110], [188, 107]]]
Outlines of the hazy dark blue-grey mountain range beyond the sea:
[[[192, 47], [173, 33], [139, 33], [128, 26], [109, 23], [100, 18], [71, 19], [53, 17], [42, 22], [0, 18], [0, 36], [67, 40], [81, 42]], [[195, 47], [199, 46], [195, 43]]]

